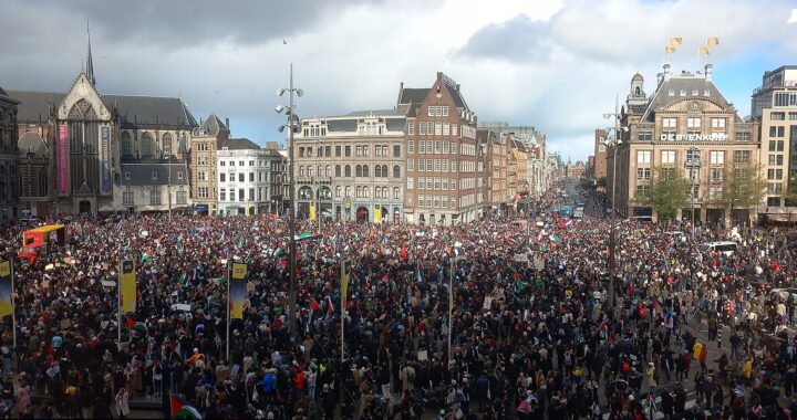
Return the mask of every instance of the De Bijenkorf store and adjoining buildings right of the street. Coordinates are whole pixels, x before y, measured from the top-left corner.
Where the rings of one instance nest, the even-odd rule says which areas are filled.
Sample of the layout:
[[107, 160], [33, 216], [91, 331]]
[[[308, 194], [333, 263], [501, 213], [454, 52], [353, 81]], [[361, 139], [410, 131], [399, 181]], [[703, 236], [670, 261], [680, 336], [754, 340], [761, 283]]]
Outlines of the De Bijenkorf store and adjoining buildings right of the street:
[[[633, 75], [618, 117], [619, 136], [613, 128], [596, 130], [589, 175], [607, 179], [621, 214], [655, 217], [641, 196], [656, 172], [676, 169], [692, 182], [690, 208], [680, 217], [694, 208], [703, 222], [790, 221], [797, 206], [789, 199], [797, 187], [797, 66], [766, 72], [743, 118], [714, 84], [711, 64], [694, 73], [673, 73], [665, 64], [652, 94], [644, 77]], [[749, 170], [758, 175], [748, 177]], [[733, 197], [734, 178], [766, 183], [762, 201], [734, 204], [745, 201]]]

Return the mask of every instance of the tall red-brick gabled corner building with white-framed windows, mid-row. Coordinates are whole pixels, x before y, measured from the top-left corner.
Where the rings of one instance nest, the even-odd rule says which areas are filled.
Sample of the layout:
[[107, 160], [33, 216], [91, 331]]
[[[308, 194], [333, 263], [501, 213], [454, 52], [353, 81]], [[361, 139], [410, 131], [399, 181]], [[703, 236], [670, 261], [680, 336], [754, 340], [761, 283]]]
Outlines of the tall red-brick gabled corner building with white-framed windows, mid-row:
[[455, 224], [480, 218], [484, 155], [476, 114], [459, 85], [442, 72], [431, 87], [402, 83], [396, 107], [406, 114], [406, 221]]

